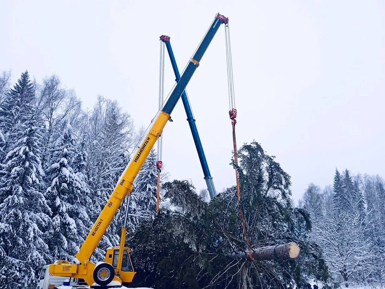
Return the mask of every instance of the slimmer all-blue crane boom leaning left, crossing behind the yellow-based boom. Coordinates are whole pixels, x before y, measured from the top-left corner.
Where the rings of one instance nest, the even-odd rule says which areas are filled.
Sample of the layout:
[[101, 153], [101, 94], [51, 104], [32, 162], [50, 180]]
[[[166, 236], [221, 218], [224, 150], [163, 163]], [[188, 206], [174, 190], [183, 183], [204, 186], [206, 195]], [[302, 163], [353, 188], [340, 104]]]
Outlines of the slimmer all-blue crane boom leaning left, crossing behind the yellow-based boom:
[[[166, 35], [162, 35], [160, 37], [160, 39], [162, 42], [164, 42], [166, 44], [167, 52], [168, 52], [170, 60], [171, 60], [172, 69], [174, 70], [174, 74], [176, 77], [175, 81], [179, 82], [179, 80], [181, 79], [181, 75], [179, 74], [179, 69], [178, 69], [177, 64], [176, 64], [174, 52], [172, 52], [172, 48], [171, 48], [171, 44], [170, 44], [170, 37], [168, 37]], [[213, 178], [211, 177], [209, 165], [207, 163], [206, 156], [204, 155], [204, 150], [203, 150], [201, 138], [199, 138], [198, 129], [196, 127], [195, 119], [194, 119], [194, 116], [192, 114], [192, 110], [191, 110], [189, 101], [187, 99], [186, 90], [184, 90], [182, 92], [181, 98], [182, 98], [184, 110], [186, 111], [187, 121], [188, 121], [190, 129], [191, 129], [191, 134], [192, 134], [192, 138], [194, 139], [194, 143], [195, 143], [196, 151], [198, 153], [199, 161], [201, 162], [204, 180], [206, 181], [206, 185], [207, 185], [207, 189], [208, 189], [209, 194], [210, 194], [210, 198], [214, 198], [216, 196], [216, 191], [215, 191], [215, 187], [214, 187], [214, 183], [213, 183]]]

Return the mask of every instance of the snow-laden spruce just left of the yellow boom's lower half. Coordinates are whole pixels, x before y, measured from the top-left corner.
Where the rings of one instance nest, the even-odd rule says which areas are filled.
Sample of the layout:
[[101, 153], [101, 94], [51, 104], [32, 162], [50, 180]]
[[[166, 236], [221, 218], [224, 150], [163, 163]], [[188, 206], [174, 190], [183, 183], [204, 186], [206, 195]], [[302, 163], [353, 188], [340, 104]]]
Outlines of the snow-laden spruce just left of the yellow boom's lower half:
[[46, 170], [49, 184], [47, 202], [52, 211], [52, 223], [45, 237], [55, 260], [72, 261], [92, 225], [88, 215], [92, 202], [84, 167], [87, 154], [81, 150], [76, 154], [76, 148], [77, 137], [72, 127], [63, 123], [62, 131], [52, 146], [52, 161]]

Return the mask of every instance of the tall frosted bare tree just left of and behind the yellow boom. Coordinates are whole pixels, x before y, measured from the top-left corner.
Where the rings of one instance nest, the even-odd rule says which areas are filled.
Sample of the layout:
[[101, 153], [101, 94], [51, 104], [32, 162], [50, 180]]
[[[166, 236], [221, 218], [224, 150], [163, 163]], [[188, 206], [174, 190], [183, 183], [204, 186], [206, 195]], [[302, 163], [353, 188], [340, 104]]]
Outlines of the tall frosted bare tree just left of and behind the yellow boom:
[[[98, 96], [84, 133], [90, 160], [87, 175], [95, 192], [94, 210], [90, 215], [95, 220], [127, 165], [129, 151], [135, 145], [134, 126], [130, 115], [122, 111], [117, 101]], [[100, 248], [119, 244], [117, 222], [110, 224]], [[97, 249], [95, 254], [102, 258], [104, 251]]]

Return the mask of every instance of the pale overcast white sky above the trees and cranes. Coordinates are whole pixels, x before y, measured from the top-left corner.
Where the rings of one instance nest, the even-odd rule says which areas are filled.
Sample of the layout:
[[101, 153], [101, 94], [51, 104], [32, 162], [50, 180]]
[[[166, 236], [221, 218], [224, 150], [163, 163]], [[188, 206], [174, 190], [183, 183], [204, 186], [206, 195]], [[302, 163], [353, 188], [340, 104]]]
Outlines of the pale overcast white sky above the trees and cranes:
[[[332, 183], [335, 168], [385, 176], [384, 1], [2, 1], [0, 71], [57, 74], [84, 108], [117, 99], [136, 127], [157, 111], [159, 36], [180, 69], [217, 12], [229, 17], [238, 146], [258, 141], [292, 177]], [[234, 185], [224, 27], [187, 92], [217, 190]], [[174, 84], [166, 58], [165, 94]], [[13, 85], [13, 84], [12, 84]], [[205, 187], [181, 101], [164, 130], [170, 179]]]

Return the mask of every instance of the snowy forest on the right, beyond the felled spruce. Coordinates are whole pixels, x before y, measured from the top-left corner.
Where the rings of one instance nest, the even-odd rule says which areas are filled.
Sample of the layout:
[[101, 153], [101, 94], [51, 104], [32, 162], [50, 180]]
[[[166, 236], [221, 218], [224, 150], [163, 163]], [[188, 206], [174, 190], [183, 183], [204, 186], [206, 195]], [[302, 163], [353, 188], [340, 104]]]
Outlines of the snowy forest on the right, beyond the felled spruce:
[[321, 190], [311, 183], [299, 204], [310, 212], [309, 237], [323, 249], [337, 281], [384, 282], [385, 184], [380, 176], [336, 169], [333, 185]]

